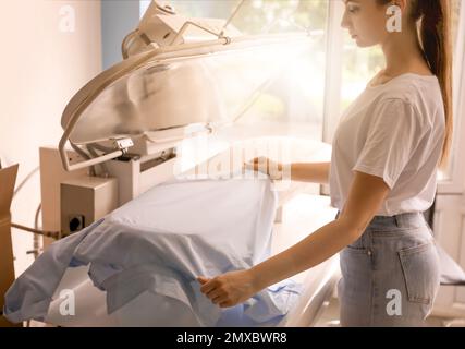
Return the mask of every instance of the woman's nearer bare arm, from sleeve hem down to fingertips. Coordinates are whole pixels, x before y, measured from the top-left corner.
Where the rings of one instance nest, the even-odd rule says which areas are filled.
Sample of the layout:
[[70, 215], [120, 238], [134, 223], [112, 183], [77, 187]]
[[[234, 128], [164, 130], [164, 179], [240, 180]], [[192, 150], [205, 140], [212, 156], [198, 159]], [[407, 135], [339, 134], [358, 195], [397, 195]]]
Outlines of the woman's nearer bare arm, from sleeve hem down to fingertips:
[[388, 193], [389, 186], [381, 178], [356, 171], [347, 202], [336, 220], [249, 269], [212, 279], [199, 277], [200, 290], [213, 303], [233, 306], [270, 285], [320, 264], [362, 236]]

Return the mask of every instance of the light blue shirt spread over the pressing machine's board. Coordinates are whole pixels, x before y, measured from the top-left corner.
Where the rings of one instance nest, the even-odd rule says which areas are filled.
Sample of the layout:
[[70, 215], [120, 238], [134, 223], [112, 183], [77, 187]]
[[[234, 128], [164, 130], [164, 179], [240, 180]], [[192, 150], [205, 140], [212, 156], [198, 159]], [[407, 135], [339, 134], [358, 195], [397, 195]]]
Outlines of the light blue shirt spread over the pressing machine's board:
[[[196, 277], [267, 258], [276, 206], [268, 179], [156, 186], [102, 222], [52, 244], [10, 288], [4, 313], [13, 322], [44, 318], [65, 269], [88, 265], [94, 285], [107, 291], [108, 313], [149, 291], [184, 303], [200, 325], [213, 326], [222, 311], [199, 291]], [[283, 281], [236, 311], [247, 325], [279, 322], [298, 294], [299, 285]]]

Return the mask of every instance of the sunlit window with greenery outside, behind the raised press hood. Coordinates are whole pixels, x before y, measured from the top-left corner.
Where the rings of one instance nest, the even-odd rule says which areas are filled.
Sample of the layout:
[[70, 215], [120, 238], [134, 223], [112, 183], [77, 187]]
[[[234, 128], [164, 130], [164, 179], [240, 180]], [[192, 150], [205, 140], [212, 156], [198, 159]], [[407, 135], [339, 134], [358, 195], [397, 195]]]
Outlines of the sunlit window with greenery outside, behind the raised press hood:
[[[228, 19], [240, 0], [172, 0], [178, 13], [199, 17]], [[231, 22], [245, 35], [297, 32], [316, 33], [311, 47], [292, 64], [285, 64], [262, 91], [241, 122], [274, 125], [280, 134], [322, 139], [327, 0], [250, 0]], [[292, 122], [290, 122], [292, 121]]]

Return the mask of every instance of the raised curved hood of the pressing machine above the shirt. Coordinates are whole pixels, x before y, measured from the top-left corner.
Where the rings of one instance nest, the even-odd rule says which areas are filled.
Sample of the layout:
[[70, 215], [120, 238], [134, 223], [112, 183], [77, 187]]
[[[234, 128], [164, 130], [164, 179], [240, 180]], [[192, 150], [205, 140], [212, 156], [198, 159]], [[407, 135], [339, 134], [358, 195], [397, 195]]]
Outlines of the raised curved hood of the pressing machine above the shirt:
[[237, 38], [170, 51], [154, 48], [113, 65], [66, 106], [61, 125], [74, 144], [142, 135], [194, 123], [233, 122], [305, 35]]

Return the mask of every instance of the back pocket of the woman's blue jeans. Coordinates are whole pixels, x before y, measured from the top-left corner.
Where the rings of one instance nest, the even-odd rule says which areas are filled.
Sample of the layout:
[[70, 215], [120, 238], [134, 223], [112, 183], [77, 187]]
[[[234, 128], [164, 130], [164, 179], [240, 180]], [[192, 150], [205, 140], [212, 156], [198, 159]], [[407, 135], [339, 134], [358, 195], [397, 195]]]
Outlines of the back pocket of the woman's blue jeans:
[[433, 241], [399, 251], [408, 300], [431, 305], [439, 289], [439, 257]]

